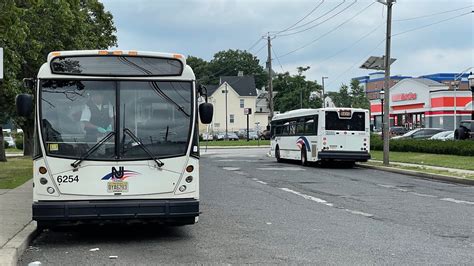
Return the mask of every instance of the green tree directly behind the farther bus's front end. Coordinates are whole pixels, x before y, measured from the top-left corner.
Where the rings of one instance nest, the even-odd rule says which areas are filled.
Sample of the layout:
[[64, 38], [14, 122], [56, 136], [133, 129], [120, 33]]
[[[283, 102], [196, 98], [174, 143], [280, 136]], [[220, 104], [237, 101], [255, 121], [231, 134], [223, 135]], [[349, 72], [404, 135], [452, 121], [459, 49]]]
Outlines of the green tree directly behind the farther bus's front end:
[[[286, 112], [294, 109], [320, 108], [322, 100], [310, 99], [311, 92], [321, 93], [322, 87], [314, 81], [306, 80], [303, 72], [309, 67], [298, 67], [297, 75], [288, 72], [278, 74], [273, 80], [275, 95], [275, 110]], [[302, 100], [302, 101], [301, 101]]]

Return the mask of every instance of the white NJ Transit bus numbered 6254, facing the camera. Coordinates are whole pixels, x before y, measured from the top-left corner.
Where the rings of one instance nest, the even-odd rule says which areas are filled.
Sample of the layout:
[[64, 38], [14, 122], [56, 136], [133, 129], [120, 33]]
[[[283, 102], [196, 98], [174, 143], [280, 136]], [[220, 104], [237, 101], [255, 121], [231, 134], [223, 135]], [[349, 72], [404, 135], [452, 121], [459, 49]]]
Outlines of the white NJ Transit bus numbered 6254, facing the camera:
[[[197, 119], [210, 123], [213, 110], [183, 55], [52, 52], [25, 84], [35, 87], [39, 227], [197, 222]], [[20, 115], [31, 115], [32, 99], [17, 96]]]

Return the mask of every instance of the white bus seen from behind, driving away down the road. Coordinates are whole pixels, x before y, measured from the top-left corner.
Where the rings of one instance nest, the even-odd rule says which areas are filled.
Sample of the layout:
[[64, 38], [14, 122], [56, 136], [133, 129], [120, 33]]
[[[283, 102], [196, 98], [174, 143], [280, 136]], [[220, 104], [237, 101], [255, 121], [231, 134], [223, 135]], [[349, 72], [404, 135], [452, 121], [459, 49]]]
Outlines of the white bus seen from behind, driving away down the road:
[[369, 111], [355, 108], [299, 109], [271, 122], [271, 154], [300, 160], [365, 162], [370, 159]]

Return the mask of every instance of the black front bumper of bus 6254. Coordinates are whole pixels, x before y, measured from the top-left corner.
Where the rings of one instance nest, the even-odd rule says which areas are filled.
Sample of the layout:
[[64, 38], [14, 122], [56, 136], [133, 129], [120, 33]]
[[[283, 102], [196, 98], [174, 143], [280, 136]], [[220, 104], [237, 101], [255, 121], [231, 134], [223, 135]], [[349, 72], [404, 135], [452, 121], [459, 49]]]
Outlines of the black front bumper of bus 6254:
[[95, 200], [39, 201], [33, 203], [33, 220], [44, 223], [155, 220], [193, 224], [199, 216], [199, 200]]

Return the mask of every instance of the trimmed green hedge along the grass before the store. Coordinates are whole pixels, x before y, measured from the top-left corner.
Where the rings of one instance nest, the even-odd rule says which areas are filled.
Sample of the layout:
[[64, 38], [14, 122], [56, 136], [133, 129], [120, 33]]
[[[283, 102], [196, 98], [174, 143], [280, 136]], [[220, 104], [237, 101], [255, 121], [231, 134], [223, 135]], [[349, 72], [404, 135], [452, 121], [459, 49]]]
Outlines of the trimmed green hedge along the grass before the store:
[[[383, 150], [383, 141], [380, 136], [370, 138], [372, 150]], [[391, 151], [421, 152], [434, 154], [450, 154], [474, 156], [474, 141], [472, 140], [424, 140], [424, 139], [397, 139], [390, 140]]]

